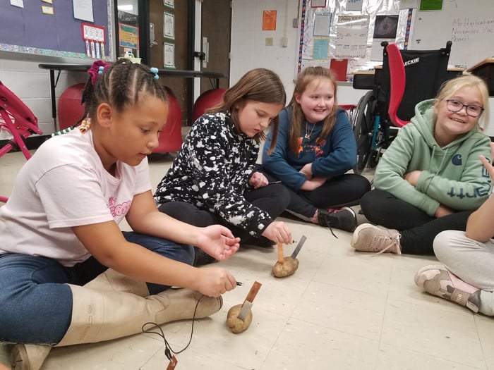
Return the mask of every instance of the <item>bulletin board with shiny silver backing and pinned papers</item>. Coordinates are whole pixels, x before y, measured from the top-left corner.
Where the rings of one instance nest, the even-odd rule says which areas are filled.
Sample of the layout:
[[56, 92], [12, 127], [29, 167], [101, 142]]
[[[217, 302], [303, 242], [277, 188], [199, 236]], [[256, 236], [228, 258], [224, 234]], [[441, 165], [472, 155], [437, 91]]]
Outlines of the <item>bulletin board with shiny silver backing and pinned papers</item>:
[[[398, 0], [300, 0], [300, 5], [300, 41], [295, 75], [307, 66], [330, 68], [333, 58], [348, 60], [349, 75], [355, 70], [371, 69], [382, 63], [380, 40], [374, 37], [380, 20], [396, 22], [396, 35], [386, 41], [403, 46], [410, 35], [406, 29], [412, 22], [411, 12], [400, 9]], [[349, 22], [343, 25], [345, 20]], [[351, 37], [347, 37], [344, 45], [338, 48], [339, 42], [349, 34]], [[355, 39], [357, 42], [352, 44]], [[349, 52], [340, 57], [344, 48]]]

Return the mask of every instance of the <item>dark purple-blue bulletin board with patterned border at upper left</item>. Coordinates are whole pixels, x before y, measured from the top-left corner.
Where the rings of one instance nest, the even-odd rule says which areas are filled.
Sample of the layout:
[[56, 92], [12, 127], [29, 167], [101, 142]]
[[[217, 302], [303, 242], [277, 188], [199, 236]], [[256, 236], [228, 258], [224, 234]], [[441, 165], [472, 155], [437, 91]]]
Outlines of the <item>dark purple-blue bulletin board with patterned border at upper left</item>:
[[[53, 15], [42, 13], [42, 5], [52, 6]], [[23, 6], [0, 0], [0, 51], [88, 59], [81, 37], [88, 22], [74, 18], [71, 0], [24, 0]], [[112, 0], [92, 0], [92, 11], [92, 24], [104, 27], [104, 55], [112, 60]]]

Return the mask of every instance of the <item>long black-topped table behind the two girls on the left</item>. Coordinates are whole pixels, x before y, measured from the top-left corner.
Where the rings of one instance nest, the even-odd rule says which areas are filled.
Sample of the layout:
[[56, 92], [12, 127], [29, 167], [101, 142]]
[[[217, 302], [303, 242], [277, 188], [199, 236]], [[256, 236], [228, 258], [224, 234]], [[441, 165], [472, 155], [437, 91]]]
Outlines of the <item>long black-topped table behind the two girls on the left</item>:
[[[49, 85], [50, 85], [50, 97], [52, 99], [52, 118], [53, 118], [53, 128], [54, 132], [57, 131], [56, 128], [56, 95], [55, 95], [55, 87], [59, 82], [60, 73], [62, 70], [68, 70], [69, 72], [87, 72], [89, 68], [91, 68], [92, 63], [90, 64], [67, 64], [67, 63], [53, 63], [39, 64], [38, 67], [42, 69], [49, 70]], [[55, 78], [55, 71], [57, 71]], [[213, 87], [219, 87], [219, 79], [220, 78], [228, 78], [227, 75], [218, 72], [205, 72], [202, 70], [179, 70], [179, 69], [159, 69], [158, 75], [167, 76], [167, 77], [177, 77], [177, 78], [209, 78], [212, 82]], [[190, 118], [192, 115], [192, 106], [194, 97], [191, 95], [187, 97], [188, 99], [188, 107], [187, 107], [187, 118], [188, 122], [190, 122]]]

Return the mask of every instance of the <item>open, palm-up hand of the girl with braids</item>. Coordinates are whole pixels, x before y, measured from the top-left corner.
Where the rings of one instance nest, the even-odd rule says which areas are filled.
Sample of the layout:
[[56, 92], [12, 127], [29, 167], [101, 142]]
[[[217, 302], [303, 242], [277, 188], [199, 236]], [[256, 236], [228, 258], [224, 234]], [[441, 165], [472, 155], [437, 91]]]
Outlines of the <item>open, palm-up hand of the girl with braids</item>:
[[212, 225], [202, 228], [196, 246], [218, 261], [229, 259], [239, 250], [240, 238], [235, 238], [228, 228]]

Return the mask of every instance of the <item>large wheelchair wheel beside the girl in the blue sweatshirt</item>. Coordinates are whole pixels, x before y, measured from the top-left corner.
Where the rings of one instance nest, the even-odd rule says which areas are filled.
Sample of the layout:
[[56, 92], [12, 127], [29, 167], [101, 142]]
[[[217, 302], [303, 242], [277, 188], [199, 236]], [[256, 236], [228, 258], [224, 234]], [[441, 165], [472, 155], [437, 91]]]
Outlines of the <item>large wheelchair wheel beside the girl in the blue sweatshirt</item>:
[[362, 173], [369, 160], [372, 147], [375, 104], [374, 94], [369, 91], [361, 97], [354, 112], [352, 126], [357, 143], [357, 162], [354, 166], [354, 173]]

